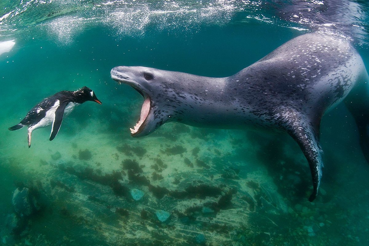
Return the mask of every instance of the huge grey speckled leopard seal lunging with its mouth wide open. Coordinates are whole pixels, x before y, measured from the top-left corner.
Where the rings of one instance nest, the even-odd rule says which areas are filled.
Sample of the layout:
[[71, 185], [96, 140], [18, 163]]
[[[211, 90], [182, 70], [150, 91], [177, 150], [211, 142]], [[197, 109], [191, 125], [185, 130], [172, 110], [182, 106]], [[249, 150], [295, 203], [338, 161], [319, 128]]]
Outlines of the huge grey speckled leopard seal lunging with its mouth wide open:
[[210, 78], [142, 66], [117, 66], [111, 78], [144, 97], [133, 137], [169, 121], [232, 129], [260, 126], [288, 133], [310, 166], [317, 196], [322, 176], [320, 122], [344, 101], [356, 120], [369, 161], [369, 78], [362, 58], [340, 37], [303, 34], [254, 64], [225, 78]]

